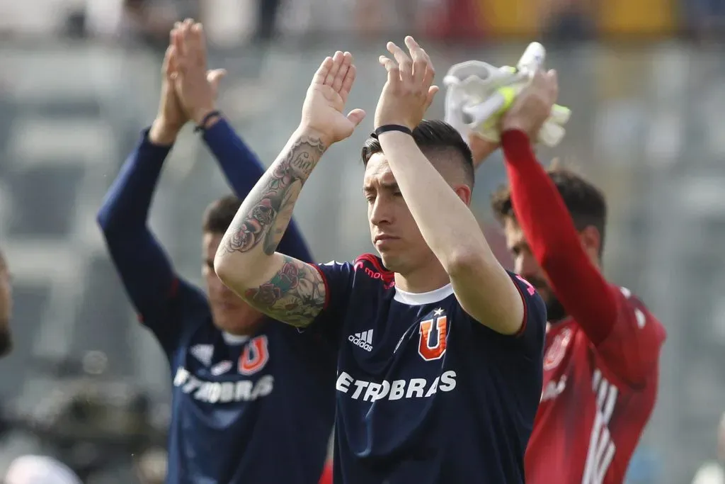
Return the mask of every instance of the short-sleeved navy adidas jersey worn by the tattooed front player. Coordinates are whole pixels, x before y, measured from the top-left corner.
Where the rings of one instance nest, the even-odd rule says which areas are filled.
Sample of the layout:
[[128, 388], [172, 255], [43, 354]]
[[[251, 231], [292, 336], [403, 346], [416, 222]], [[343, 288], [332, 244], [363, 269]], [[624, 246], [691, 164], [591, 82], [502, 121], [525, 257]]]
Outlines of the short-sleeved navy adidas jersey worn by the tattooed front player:
[[526, 319], [506, 336], [450, 284], [398, 290], [374, 255], [317, 267], [328, 300], [313, 327], [339, 342], [335, 482], [523, 483], [546, 324], [534, 288], [511, 274]]

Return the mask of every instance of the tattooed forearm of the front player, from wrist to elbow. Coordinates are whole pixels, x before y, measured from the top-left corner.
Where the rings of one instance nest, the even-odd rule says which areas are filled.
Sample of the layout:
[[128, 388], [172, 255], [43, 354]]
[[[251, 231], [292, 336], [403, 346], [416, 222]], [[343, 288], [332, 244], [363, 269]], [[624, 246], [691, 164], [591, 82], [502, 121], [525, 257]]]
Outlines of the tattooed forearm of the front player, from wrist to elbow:
[[275, 252], [299, 191], [325, 150], [320, 139], [309, 136], [300, 137], [286, 149], [244, 200], [224, 237], [226, 252], [249, 252], [260, 242], [265, 254]]

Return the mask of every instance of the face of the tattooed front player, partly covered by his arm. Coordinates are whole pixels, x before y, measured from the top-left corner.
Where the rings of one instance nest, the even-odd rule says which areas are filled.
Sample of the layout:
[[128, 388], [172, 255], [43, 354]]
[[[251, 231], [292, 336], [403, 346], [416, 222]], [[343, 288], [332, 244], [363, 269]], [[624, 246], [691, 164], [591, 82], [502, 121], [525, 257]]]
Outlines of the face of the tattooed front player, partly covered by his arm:
[[382, 153], [368, 160], [363, 193], [368, 200], [370, 237], [386, 268], [406, 274], [435, 259]]

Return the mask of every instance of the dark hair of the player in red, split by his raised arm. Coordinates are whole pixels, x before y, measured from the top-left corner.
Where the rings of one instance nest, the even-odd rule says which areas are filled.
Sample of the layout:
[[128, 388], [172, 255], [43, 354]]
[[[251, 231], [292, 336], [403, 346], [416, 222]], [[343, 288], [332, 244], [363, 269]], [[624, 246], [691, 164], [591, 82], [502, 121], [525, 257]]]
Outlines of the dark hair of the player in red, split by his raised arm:
[[[599, 231], [602, 255], [607, 223], [607, 202], [602, 191], [568, 168], [553, 165], [547, 173], [564, 200], [576, 229], [581, 231], [594, 226]], [[508, 186], [502, 186], [492, 194], [491, 206], [498, 221], [503, 223], [506, 218], [515, 218]]]

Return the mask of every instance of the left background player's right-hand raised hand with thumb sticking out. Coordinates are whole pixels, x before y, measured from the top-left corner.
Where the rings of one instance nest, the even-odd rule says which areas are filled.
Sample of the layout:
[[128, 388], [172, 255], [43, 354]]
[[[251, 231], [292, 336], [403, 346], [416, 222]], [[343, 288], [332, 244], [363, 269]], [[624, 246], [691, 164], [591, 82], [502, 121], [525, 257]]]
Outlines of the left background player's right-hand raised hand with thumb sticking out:
[[202, 24], [187, 19], [172, 35], [176, 93], [188, 118], [199, 124], [215, 110], [219, 83], [226, 71], [207, 71], [207, 42]]

